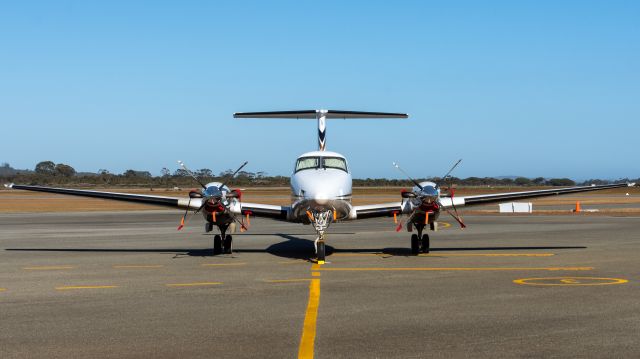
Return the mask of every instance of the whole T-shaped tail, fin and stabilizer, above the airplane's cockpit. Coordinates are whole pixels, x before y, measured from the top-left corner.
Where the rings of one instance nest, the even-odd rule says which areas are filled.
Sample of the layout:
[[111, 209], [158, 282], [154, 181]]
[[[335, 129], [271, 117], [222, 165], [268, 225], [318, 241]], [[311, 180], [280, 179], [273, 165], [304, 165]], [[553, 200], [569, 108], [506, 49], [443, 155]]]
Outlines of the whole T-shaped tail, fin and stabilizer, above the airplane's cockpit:
[[234, 118], [285, 118], [285, 119], [316, 119], [318, 121], [318, 150], [327, 147], [327, 119], [353, 118], [408, 118], [406, 113], [393, 112], [363, 112], [342, 110], [302, 110], [302, 111], [271, 111], [271, 112], [236, 112]]

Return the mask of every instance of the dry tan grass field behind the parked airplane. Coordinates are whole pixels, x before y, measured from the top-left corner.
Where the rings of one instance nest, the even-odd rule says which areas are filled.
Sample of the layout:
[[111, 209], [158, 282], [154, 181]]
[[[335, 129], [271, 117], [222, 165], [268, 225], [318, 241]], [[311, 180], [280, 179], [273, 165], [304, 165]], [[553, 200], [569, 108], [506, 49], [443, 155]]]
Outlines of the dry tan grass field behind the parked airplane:
[[[537, 188], [526, 188], [533, 190]], [[125, 192], [137, 194], [151, 194], [168, 197], [186, 197], [188, 189], [181, 191], [167, 189], [97, 189], [100, 191]], [[353, 204], [372, 204], [396, 202], [400, 199], [399, 187], [356, 187], [353, 190]], [[498, 192], [522, 191], [523, 188], [459, 188], [456, 195], [466, 196], [473, 194], [488, 194]], [[630, 196], [625, 196], [629, 193]], [[247, 188], [243, 190], [243, 200], [275, 205], [288, 205], [291, 203], [290, 190], [287, 187], [274, 188]], [[612, 190], [588, 192], [559, 197], [546, 197], [535, 199], [535, 205], [573, 205], [576, 201], [587, 206], [601, 204], [640, 204], [640, 188], [616, 188]], [[640, 207], [640, 206], [638, 206]], [[52, 193], [30, 192], [20, 190], [0, 190], [0, 213], [10, 212], [84, 212], [84, 211], [131, 211], [154, 210], [161, 207], [134, 204], [128, 202], [93, 199], [76, 196], [56, 195]], [[469, 214], [497, 213], [495, 211], [466, 210]], [[566, 211], [536, 211], [540, 214], [566, 214]], [[598, 214], [638, 214], [640, 208], [601, 209]]]

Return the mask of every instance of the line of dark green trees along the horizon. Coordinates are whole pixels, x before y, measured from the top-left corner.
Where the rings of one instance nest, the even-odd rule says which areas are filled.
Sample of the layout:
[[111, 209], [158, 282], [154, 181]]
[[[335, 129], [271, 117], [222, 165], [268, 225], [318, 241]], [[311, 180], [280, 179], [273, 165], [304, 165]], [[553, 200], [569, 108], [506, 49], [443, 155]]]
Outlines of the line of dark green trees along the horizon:
[[[240, 171], [235, 178], [231, 179], [232, 169], [213, 173], [208, 168], [201, 168], [193, 171], [196, 177], [203, 182], [225, 182], [233, 186], [288, 186], [289, 177], [269, 176], [266, 172]], [[53, 161], [42, 161], [36, 164], [33, 170], [20, 170], [11, 167], [8, 163], [0, 165], [0, 180], [2, 182], [14, 182], [30, 185], [74, 185], [74, 186], [94, 186], [94, 187], [195, 187], [197, 183], [184, 169], [177, 169], [171, 172], [168, 168], [162, 168], [159, 176], [153, 176], [149, 171], [129, 169], [123, 173], [111, 173], [107, 169], [100, 169], [98, 172], [77, 172], [73, 167], [64, 163], [54, 163]], [[417, 181], [440, 181], [438, 177], [420, 178]], [[628, 178], [617, 181], [590, 179], [581, 183], [576, 183], [569, 178], [493, 178], [493, 177], [468, 177], [468, 178], [447, 178], [442, 181], [443, 185], [455, 184], [458, 186], [574, 186], [590, 184], [609, 184], [614, 182], [640, 182], [640, 179], [630, 180]], [[408, 179], [387, 179], [387, 178], [366, 178], [354, 179], [354, 186], [362, 187], [408, 187], [413, 183]]]

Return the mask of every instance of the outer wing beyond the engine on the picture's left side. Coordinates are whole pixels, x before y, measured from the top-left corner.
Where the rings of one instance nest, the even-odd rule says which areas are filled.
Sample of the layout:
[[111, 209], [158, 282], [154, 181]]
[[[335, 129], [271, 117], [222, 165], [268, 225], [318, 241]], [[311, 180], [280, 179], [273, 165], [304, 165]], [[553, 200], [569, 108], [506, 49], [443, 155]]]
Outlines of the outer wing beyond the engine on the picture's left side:
[[191, 203], [189, 203], [188, 197], [176, 198], [176, 197], [151, 196], [151, 195], [134, 194], [134, 193], [102, 192], [102, 191], [91, 191], [91, 190], [83, 190], [83, 189], [69, 189], [69, 188], [43, 187], [43, 186], [26, 186], [26, 185], [17, 185], [13, 183], [5, 186], [8, 188], [21, 189], [26, 191], [58, 193], [58, 194], [66, 194], [66, 195], [72, 195], [72, 196], [111, 199], [111, 200], [117, 200], [117, 201], [150, 204], [150, 205], [170, 207], [170, 208], [185, 209], [187, 208], [187, 205], [188, 205], [192, 209], [198, 209], [202, 204], [201, 199], [199, 198], [191, 199]]

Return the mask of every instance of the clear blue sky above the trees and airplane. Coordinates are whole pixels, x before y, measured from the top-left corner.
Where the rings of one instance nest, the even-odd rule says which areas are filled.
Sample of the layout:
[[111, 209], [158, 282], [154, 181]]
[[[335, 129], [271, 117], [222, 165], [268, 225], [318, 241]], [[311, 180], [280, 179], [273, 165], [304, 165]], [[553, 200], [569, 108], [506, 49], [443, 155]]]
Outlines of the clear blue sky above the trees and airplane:
[[639, 177], [637, 1], [0, 5], [0, 162], [290, 174], [314, 121], [355, 177]]

